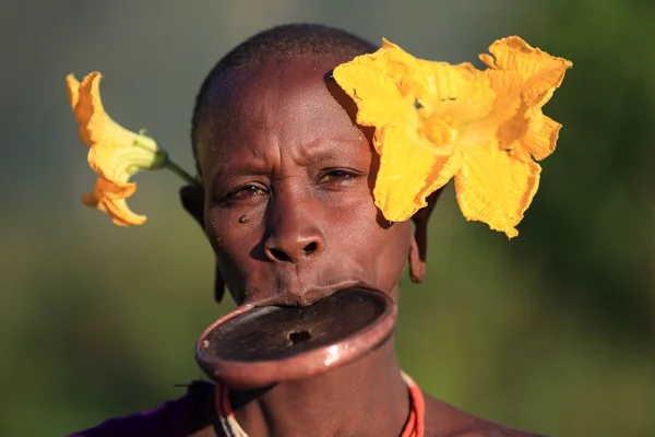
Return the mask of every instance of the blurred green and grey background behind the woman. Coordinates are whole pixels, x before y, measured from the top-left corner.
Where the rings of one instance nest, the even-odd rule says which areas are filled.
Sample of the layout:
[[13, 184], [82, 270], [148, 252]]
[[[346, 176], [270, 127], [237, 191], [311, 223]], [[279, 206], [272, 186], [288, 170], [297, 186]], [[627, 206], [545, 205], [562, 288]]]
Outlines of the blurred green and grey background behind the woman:
[[[60, 436], [181, 395], [201, 377], [212, 252], [171, 174], [139, 178], [119, 228], [93, 188], [64, 76], [104, 73], [108, 113], [192, 168], [190, 114], [228, 49], [275, 24], [382, 36], [433, 60], [517, 34], [565, 57], [563, 123], [508, 241], [452, 187], [428, 281], [403, 288], [397, 350], [430, 393], [553, 436], [655, 436], [655, 2], [652, 0], [3, 1], [0, 9], [0, 435]], [[479, 66], [479, 62], [477, 63]]]

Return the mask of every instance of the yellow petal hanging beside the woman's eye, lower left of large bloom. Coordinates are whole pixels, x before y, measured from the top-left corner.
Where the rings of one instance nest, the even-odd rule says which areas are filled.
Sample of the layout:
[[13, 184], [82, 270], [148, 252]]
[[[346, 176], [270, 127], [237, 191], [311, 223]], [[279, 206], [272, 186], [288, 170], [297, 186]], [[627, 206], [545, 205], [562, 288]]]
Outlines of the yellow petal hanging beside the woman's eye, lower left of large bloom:
[[452, 145], [434, 147], [405, 125], [376, 133], [383, 144], [373, 197], [391, 222], [405, 221], [427, 205], [426, 198], [457, 172], [461, 154]]

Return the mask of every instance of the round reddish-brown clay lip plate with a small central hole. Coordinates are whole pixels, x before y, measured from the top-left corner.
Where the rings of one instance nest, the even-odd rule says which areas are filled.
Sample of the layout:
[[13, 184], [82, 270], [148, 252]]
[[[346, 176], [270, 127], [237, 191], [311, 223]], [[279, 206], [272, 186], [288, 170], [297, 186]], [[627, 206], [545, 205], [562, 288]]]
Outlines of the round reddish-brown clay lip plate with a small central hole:
[[380, 292], [340, 291], [307, 307], [242, 306], [200, 336], [195, 359], [212, 380], [252, 389], [349, 363], [392, 333], [397, 306]]

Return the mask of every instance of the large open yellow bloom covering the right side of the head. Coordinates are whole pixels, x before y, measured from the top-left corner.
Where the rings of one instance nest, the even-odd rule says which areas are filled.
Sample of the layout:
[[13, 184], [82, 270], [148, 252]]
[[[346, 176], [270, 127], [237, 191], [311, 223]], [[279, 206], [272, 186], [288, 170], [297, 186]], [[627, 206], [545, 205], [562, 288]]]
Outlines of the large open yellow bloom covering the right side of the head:
[[376, 128], [376, 204], [393, 222], [409, 218], [454, 177], [466, 220], [519, 234], [539, 185], [543, 160], [561, 125], [541, 107], [572, 64], [513, 36], [480, 55], [484, 71], [414, 58], [382, 47], [338, 66], [334, 79], [357, 104], [357, 122]]

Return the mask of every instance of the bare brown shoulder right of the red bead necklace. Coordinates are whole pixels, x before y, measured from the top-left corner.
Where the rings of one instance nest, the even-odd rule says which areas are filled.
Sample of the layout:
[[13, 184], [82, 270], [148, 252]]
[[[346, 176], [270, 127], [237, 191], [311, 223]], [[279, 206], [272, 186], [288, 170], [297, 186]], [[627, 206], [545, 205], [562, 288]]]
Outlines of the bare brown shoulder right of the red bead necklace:
[[426, 437], [546, 437], [476, 417], [427, 393], [424, 399]]

